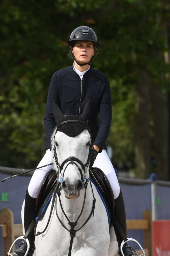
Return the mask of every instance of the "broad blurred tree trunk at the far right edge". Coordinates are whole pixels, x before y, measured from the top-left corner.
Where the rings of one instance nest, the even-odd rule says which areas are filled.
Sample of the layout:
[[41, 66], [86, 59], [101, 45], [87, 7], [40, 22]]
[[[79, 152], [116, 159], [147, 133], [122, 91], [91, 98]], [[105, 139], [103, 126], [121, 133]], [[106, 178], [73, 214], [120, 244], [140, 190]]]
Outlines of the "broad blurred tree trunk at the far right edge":
[[157, 178], [169, 178], [169, 102], [168, 93], [157, 84], [151, 87], [151, 103], [153, 115], [153, 151], [155, 152], [155, 172]]

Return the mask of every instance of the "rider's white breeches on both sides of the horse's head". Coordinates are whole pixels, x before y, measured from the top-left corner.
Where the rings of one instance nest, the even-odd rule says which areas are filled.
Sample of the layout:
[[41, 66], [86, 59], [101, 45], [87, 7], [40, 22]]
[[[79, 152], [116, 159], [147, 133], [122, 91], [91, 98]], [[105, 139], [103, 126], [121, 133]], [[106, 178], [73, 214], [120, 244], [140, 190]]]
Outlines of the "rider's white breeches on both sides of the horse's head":
[[[44, 157], [42, 158], [42, 160], [40, 161], [37, 167], [41, 167], [45, 164], [50, 164], [50, 163], [52, 163], [52, 154], [50, 149], [47, 149]], [[97, 155], [96, 160], [93, 164], [93, 167], [100, 168], [106, 174], [113, 190], [114, 199], [116, 199], [120, 193], [120, 186], [119, 186], [118, 179], [116, 177], [113, 165], [110, 162], [110, 159], [105, 149], [103, 149], [102, 152]], [[28, 192], [31, 197], [34, 197], [34, 198], [37, 197], [38, 189], [40, 187], [40, 184], [43, 178], [45, 177], [45, 174], [49, 172], [50, 169], [52, 168], [53, 168], [53, 165], [49, 165], [49, 166], [35, 170], [30, 180], [30, 184], [28, 186]]]

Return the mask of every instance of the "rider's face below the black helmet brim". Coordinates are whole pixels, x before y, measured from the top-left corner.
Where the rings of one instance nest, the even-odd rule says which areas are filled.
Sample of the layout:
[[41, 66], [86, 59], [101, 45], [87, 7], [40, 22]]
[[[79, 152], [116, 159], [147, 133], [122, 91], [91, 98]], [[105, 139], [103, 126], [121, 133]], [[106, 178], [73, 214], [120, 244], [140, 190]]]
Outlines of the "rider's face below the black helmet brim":
[[73, 54], [80, 64], [88, 63], [94, 55], [93, 43], [90, 41], [75, 42]]

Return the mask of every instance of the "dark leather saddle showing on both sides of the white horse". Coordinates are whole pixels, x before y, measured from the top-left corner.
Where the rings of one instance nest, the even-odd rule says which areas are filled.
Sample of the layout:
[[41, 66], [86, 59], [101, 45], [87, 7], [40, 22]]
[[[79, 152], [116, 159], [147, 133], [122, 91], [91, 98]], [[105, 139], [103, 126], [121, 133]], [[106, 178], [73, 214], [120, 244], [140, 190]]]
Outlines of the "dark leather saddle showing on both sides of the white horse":
[[[113, 214], [114, 214], [114, 196], [113, 191], [110, 186], [110, 183], [103, 173], [103, 171], [99, 168], [91, 167], [89, 169], [91, 182], [95, 185], [99, 195], [103, 203], [105, 204], [106, 211], [108, 214], [109, 226], [113, 223]], [[38, 190], [38, 196], [36, 199], [36, 208], [35, 215], [38, 216], [40, 213], [41, 207], [45, 201], [47, 201], [47, 197], [52, 194], [57, 183], [57, 173], [54, 169], [51, 169], [45, 175], [40, 188]]]

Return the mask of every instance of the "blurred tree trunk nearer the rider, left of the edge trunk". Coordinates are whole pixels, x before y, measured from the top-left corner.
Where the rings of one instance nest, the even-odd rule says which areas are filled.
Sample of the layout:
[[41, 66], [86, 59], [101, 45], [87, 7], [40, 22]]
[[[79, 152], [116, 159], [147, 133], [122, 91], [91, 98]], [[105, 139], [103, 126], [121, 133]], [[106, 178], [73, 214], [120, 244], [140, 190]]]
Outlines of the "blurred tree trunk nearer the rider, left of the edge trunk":
[[146, 72], [140, 72], [135, 88], [135, 164], [137, 178], [147, 179], [150, 173], [149, 86]]

